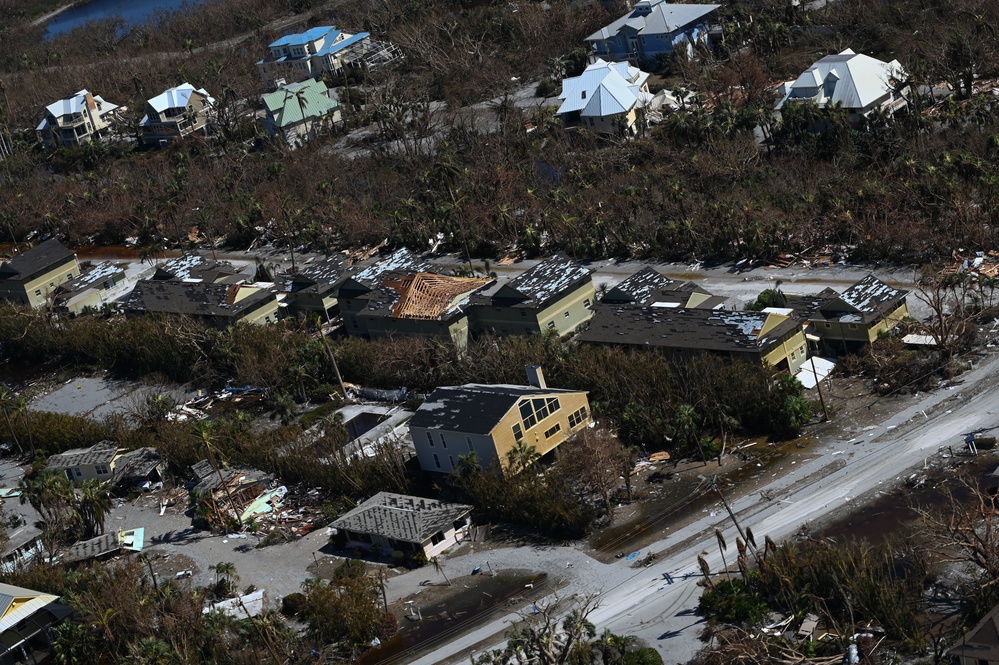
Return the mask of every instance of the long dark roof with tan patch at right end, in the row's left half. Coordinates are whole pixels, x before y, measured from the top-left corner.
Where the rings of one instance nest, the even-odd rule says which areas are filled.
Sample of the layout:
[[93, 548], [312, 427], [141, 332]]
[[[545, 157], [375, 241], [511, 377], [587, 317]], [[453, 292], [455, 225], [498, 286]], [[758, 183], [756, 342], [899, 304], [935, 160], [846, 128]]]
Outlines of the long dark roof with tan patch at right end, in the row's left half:
[[131, 313], [238, 318], [275, 299], [272, 291], [240, 284], [141, 280], [124, 306]]

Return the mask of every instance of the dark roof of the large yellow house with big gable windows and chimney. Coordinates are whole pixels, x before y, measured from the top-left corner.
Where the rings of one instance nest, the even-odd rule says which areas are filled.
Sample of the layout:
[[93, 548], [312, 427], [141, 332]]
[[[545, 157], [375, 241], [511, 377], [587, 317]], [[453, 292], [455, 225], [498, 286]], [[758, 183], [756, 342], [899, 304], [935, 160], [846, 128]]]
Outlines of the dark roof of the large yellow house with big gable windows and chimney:
[[410, 427], [489, 434], [525, 397], [578, 394], [579, 390], [469, 383], [437, 388], [409, 419]]

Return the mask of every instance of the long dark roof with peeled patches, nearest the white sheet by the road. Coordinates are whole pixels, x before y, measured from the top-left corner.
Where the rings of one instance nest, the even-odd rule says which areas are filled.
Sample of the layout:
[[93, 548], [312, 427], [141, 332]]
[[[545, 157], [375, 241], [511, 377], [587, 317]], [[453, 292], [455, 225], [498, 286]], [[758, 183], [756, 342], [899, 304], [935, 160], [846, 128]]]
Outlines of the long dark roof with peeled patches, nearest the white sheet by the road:
[[792, 318], [769, 312], [599, 304], [590, 327], [578, 339], [596, 344], [767, 353], [800, 327]]

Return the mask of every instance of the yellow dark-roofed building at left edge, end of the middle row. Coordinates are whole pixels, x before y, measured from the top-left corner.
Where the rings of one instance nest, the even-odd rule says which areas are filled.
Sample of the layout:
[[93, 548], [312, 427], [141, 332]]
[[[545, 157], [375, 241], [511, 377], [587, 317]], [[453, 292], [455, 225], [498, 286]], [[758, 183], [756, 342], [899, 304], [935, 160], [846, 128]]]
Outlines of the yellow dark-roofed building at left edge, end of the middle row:
[[60, 285], [79, 274], [76, 252], [55, 238], [46, 240], [0, 264], [0, 298], [42, 307]]

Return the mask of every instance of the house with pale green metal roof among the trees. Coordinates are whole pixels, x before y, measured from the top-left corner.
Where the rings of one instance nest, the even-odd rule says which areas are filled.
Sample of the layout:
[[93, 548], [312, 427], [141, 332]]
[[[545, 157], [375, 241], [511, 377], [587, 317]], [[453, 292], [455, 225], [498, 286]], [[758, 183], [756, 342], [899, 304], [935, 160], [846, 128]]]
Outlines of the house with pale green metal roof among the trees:
[[264, 95], [262, 119], [270, 136], [280, 136], [295, 147], [322, 129], [340, 122], [340, 102], [325, 83], [309, 79], [289, 83]]

